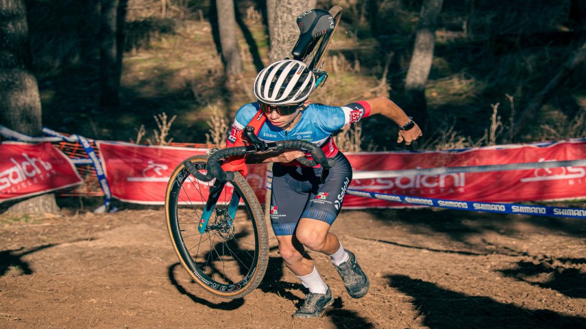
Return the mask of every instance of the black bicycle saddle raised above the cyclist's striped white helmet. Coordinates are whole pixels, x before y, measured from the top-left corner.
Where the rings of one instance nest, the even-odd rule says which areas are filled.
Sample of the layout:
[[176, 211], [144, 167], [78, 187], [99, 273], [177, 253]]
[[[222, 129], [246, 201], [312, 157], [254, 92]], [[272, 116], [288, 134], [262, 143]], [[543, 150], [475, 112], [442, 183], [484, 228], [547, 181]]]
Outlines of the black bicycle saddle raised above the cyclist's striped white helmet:
[[309, 46], [316, 42], [319, 36], [334, 31], [334, 18], [325, 10], [309, 10], [297, 17], [297, 26], [300, 29], [300, 36], [291, 55], [294, 60], [301, 60], [310, 51]]

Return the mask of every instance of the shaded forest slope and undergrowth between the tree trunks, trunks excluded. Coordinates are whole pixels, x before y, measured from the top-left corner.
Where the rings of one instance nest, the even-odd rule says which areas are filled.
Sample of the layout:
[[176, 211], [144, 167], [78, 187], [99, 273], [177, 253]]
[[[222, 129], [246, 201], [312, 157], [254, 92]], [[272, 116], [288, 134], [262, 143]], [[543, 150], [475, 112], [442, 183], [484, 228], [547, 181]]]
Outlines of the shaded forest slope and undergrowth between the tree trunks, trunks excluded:
[[[26, 3], [42, 124], [63, 133], [157, 143], [154, 116], [164, 113], [176, 116], [167, 141], [215, 142], [210, 125], [231, 122], [254, 101], [252, 81], [269, 63], [265, 1], [234, 1], [243, 73], [228, 79], [215, 1], [130, 0], [120, 103], [101, 106], [99, 1]], [[332, 5], [344, 12], [324, 67], [330, 77], [313, 101], [343, 105], [382, 94], [409, 113], [404, 81], [424, 1], [317, 1], [317, 8]], [[585, 7], [576, 0], [445, 1], [424, 86], [426, 135], [414, 147], [585, 137]], [[548, 86], [571, 60], [577, 63]], [[515, 127], [536, 98], [531, 120]], [[362, 150], [403, 147], [385, 118], [364, 120], [361, 128], [351, 139], [362, 140]]]

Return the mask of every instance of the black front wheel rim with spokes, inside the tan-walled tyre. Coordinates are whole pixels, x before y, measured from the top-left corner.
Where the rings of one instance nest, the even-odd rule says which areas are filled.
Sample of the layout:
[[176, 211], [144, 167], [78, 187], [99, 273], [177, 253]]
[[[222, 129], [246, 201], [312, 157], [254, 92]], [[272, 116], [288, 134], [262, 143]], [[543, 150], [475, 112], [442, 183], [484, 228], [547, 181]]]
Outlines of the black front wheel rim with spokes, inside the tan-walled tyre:
[[[185, 169], [175, 175], [169, 198], [169, 209], [176, 209], [169, 211], [174, 217], [170, 221], [174, 226], [171, 235], [182, 264], [195, 280], [214, 293], [233, 295], [245, 289], [257, 273], [258, 231], [252, 209], [241, 198], [233, 225], [228, 205], [218, 202], [206, 232], [200, 234], [197, 226], [204, 208], [201, 200], [205, 202], [211, 185], [212, 182], [197, 181]], [[229, 200], [231, 190], [225, 187], [222, 197]], [[243, 195], [237, 185], [234, 191]]]

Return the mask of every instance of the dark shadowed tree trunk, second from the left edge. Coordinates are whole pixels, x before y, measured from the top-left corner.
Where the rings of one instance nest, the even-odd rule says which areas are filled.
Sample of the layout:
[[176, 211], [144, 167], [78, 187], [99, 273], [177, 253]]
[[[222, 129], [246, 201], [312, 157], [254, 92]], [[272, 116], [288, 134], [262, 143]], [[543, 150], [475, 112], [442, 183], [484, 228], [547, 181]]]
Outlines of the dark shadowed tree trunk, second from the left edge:
[[101, 0], [100, 10], [100, 105], [116, 107], [120, 104], [119, 90], [122, 74], [124, 22], [127, 0]]

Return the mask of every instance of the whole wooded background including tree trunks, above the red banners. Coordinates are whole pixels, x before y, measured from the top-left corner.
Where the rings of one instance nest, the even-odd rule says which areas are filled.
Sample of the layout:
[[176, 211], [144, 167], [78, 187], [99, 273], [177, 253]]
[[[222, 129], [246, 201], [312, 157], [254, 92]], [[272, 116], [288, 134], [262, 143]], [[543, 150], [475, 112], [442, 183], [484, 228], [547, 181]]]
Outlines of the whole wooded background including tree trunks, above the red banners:
[[[255, 101], [258, 71], [290, 55], [295, 18], [334, 5], [344, 11], [323, 66], [330, 78], [312, 101], [389, 96], [424, 130], [396, 144], [394, 122], [375, 116], [337, 133], [342, 150], [586, 136], [584, 0], [5, 0], [0, 124], [222, 144]], [[19, 205], [58, 211], [51, 195]]]

